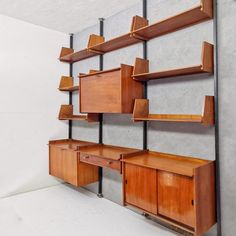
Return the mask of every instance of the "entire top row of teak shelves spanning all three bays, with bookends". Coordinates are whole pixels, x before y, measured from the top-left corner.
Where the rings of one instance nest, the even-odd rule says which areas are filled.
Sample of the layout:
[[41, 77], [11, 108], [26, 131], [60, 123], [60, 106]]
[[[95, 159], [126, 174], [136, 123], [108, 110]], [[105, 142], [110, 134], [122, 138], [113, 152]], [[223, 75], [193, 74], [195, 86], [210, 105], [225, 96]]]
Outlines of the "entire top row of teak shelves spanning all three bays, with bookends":
[[134, 16], [129, 33], [105, 41], [105, 38], [92, 34], [86, 49], [74, 52], [73, 49], [63, 47], [60, 61], [74, 63], [90, 57], [124, 48], [144, 40], [149, 40], [185, 27], [212, 19], [212, 0], [202, 0], [201, 3], [175, 16], [169, 17], [155, 24], [148, 25], [148, 20]]

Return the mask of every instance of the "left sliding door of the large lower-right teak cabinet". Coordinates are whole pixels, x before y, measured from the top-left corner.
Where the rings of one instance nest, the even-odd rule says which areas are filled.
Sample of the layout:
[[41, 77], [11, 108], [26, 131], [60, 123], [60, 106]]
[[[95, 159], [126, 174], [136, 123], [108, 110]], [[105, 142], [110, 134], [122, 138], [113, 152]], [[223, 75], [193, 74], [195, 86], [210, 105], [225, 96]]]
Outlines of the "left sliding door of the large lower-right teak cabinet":
[[156, 170], [125, 164], [125, 201], [157, 214]]

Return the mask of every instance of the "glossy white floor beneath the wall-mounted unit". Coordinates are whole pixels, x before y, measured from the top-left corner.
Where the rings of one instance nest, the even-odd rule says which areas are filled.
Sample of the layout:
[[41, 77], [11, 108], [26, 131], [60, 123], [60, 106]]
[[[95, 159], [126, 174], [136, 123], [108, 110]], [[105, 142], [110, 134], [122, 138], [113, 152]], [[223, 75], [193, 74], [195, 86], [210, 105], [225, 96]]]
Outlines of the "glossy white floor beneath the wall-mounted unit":
[[67, 185], [0, 200], [0, 236], [173, 236], [127, 208]]

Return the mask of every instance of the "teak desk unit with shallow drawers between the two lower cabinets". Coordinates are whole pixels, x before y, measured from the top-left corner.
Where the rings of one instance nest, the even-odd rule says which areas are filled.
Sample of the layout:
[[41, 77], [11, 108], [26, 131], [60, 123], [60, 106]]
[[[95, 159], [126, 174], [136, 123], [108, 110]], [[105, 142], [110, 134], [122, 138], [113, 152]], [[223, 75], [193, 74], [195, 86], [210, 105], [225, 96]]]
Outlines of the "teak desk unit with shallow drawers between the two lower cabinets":
[[121, 158], [140, 152], [138, 149], [98, 144], [80, 150], [80, 161], [121, 172]]

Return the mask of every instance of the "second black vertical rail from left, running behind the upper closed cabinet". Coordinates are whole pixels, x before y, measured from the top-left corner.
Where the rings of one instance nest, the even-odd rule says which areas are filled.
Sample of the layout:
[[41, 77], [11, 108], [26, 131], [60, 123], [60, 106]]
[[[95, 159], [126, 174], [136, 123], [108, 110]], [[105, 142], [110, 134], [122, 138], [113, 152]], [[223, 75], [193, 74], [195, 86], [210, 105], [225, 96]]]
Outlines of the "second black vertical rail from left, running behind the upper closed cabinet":
[[[103, 31], [104, 31], [104, 19], [99, 18], [99, 31], [100, 31], [100, 36], [103, 36]], [[99, 70], [103, 70], [103, 55], [99, 55]], [[99, 115], [99, 144], [103, 143], [103, 114]], [[99, 182], [98, 182], [98, 194], [97, 196], [102, 198], [102, 179], [103, 179], [103, 169], [102, 167], [98, 168], [98, 177], [99, 177]]]

